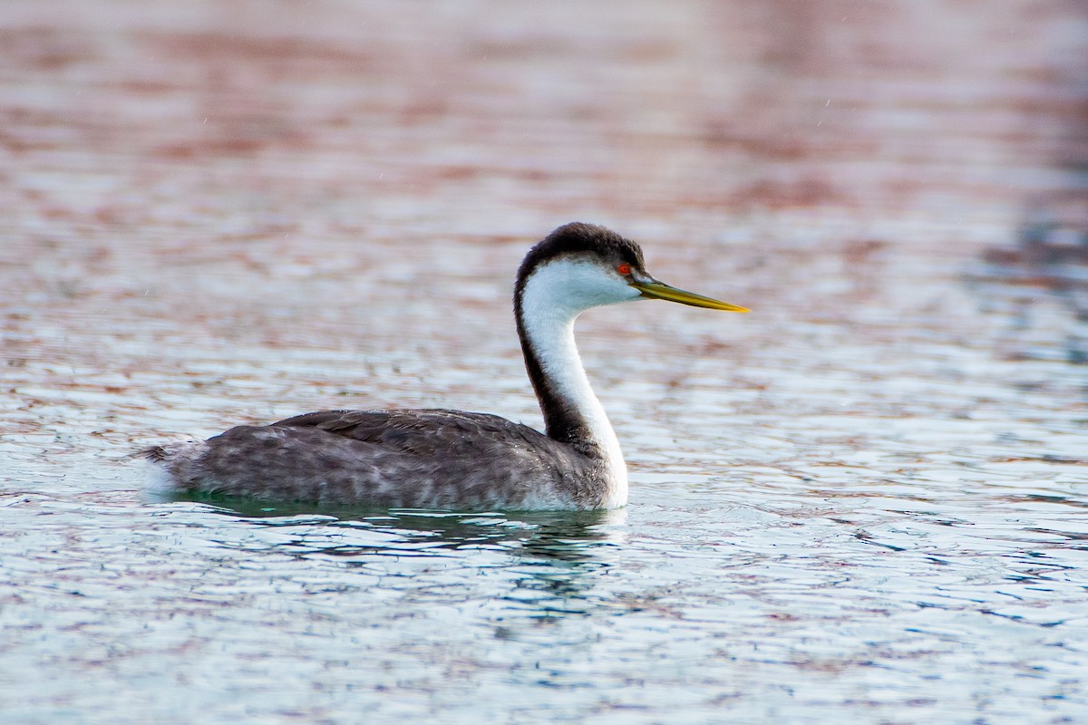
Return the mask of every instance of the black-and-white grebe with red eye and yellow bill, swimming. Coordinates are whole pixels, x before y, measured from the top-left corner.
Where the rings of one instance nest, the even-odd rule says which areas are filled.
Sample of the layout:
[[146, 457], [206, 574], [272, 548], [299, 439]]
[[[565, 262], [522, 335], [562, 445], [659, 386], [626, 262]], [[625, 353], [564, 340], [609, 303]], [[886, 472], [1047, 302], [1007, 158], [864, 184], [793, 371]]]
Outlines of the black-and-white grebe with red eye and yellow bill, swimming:
[[545, 434], [453, 410], [322, 411], [156, 446], [166, 488], [272, 501], [454, 510], [616, 509], [627, 465], [574, 346], [574, 320], [642, 298], [744, 308], [646, 273], [639, 246], [602, 226], [564, 225], [518, 270], [514, 310]]

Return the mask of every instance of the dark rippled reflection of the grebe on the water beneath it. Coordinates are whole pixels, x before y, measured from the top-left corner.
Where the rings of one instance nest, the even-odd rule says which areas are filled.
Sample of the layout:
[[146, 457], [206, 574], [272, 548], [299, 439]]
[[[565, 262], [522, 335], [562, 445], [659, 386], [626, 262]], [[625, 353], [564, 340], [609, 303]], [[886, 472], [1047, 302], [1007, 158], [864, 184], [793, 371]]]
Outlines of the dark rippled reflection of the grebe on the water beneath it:
[[[413, 601], [446, 601], [467, 570], [497, 575], [492, 597], [498, 620], [585, 614], [596, 605], [596, 573], [611, 565], [626, 511], [465, 513], [397, 509], [325, 509], [252, 500], [184, 497], [201, 511], [227, 516], [243, 530], [218, 526], [217, 545], [292, 561], [332, 563], [338, 591], [358, 585], [348, 574], [373, 574]], [[233, 532], [233, 533], [232, 533]], [[449, 578], [450, 575], [453, 578]], [[293, 574], [294, 576], [295, 574]], [[399, 584], [390, 584], [396, 580]], [[326, 588], [325, 590], [332, 590]]]

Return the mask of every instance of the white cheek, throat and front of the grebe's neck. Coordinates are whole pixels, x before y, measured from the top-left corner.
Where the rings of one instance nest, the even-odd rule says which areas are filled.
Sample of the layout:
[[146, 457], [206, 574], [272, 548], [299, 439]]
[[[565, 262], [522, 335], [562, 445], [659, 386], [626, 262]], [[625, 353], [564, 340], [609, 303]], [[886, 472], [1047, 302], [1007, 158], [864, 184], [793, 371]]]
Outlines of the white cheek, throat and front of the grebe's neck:
[[627, 464], [608, 415], [585, 377], [574, 343], [574, 320], [585, 310], [636, 299], [640, 292], [619, 275], [582, 260], [555, 260], [526, 280], [522, 326], [551, 390], [578, 411], [604, 452], [610, 474], [604, 508], [627, 503]]

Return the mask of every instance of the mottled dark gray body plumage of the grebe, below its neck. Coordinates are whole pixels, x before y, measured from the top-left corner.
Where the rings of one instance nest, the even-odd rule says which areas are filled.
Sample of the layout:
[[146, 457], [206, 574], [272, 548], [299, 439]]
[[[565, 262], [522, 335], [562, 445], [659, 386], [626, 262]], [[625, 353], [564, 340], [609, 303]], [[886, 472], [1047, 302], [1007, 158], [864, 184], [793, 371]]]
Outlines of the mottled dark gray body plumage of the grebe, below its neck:
[[174, 446], [149, 454], [188, 487], [275, 501], [593, 509], [604, 476], [598, 458], [529, 426], [449, 410], [322, 411]]

